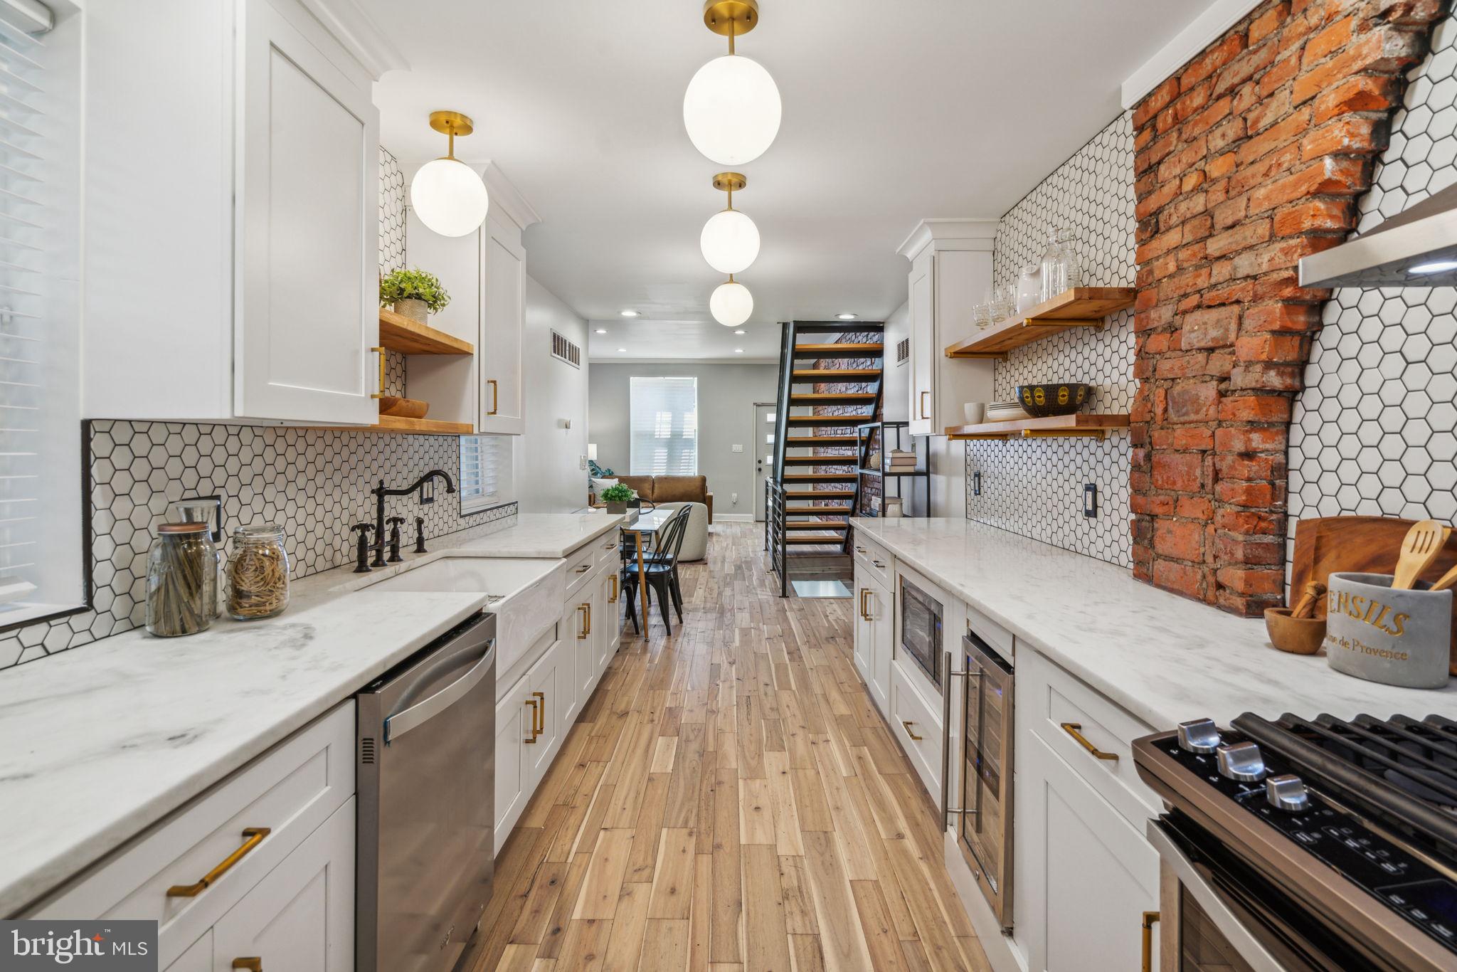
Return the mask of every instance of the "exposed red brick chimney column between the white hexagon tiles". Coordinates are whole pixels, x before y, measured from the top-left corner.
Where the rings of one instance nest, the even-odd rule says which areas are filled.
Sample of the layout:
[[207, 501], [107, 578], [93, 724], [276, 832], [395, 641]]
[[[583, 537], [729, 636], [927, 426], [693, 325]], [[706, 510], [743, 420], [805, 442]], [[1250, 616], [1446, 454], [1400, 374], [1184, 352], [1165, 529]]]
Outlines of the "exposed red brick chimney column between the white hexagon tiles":
[[1339, 243], [1442, 0], [1268, 0], [1134, 111], [1134, 573], [1253, 615], [1284, 595], [1287, 439]]

